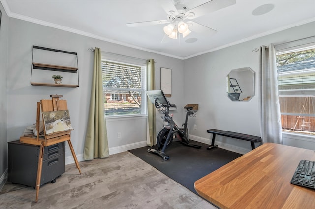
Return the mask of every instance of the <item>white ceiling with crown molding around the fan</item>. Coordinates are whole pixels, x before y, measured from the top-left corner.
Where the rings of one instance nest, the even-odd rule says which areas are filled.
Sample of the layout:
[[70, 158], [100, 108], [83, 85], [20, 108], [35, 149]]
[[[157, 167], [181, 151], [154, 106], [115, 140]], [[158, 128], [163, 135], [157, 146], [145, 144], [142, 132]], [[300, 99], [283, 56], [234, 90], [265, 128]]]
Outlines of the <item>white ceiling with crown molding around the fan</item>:
[[[189, 9], [208, 0], [183, 0]], [[214, 35], [192, 32], [178, 40], [163, 27], [127, 27], [126, 23], [165, 20], [162, 0], [1, 0], [8, 16], [137, 49], [186, 59], [315, 21], [315, 0], [236, 0], [236, 4], [195, 18]], [[254, 16], [264, 4], [274, 9]], [[315, 30], [315, 28], [314, 28]], [[185, 40], [196, 38], [193, 43]], [[163, 42], [162, 42], [163, 40]], [[162, 42], [162, 43], [161, 43]], [[95, 46], [91, 46], [95, 47]]]

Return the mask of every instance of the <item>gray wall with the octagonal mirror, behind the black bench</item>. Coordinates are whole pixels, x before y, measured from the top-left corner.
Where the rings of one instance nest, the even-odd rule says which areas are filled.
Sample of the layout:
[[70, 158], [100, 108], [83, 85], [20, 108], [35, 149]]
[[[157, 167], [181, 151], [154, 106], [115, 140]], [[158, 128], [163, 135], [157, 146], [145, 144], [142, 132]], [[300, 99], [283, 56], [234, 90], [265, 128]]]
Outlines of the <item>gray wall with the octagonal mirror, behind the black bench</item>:
[[[199, 104], [197, 117], [191, 120], [190, 134], [196, 140], [210, 142], [207, 129], [221, 129], [260, 136], [258, 78], [261, 45], [275, 45], [315, 35], [315, 22], [286, 29], [197, 57], [184, 60], [186, 103]], [[233, 102], [226, 95], [226, 76], [232, 69], [250, 67], [256, 74], [255, 96], [248, 102]], [[193, 129], [197, 124], [197, 129]], [[218, 136], [218, 144], [245, 153], [249, 142]], [[301, 142], [300, 142], [301, 143]], [[311, 144], [314, 147], [315, 144]], [[310, 149], [305, 145], [304, 148]]]

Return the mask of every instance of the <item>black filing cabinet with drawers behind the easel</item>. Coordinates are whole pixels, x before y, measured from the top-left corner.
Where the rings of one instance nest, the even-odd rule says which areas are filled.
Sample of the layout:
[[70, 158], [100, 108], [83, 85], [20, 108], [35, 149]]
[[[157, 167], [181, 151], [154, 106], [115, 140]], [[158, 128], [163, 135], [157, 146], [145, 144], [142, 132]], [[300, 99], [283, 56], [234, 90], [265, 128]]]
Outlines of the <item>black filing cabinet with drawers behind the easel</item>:
[[[36, 187], [40, 146], [8, 142], [8, 182]], [[65, 172], [65, 142], [44, 148], [40, 185], [55, 182]]]

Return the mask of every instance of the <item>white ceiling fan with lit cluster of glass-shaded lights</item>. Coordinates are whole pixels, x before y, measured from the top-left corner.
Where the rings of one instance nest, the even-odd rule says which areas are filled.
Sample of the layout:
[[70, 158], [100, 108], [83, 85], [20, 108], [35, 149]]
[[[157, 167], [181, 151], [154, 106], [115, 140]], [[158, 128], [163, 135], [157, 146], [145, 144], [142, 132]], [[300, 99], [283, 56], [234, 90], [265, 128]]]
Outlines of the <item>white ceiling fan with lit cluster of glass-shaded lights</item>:
[[182, 34], [183, 38], [185, 38], [191, 31], [210, 32], [214, 34], [217, 32], [216, 30], [191, 20], [207, 13], [234, 5], [235, 3], [235, 0], [211, 0], [189, 10], [188, 7], [183, 4], [183, 0], [162, 1], [162, 7], [167, 13], [166, 20], [127, 23], [126, 26], [152, 26], [168, 23], [167, 26], [164, 26], [163, 30], [165, 34], [172, 39], [177, 39], [178, 33]]

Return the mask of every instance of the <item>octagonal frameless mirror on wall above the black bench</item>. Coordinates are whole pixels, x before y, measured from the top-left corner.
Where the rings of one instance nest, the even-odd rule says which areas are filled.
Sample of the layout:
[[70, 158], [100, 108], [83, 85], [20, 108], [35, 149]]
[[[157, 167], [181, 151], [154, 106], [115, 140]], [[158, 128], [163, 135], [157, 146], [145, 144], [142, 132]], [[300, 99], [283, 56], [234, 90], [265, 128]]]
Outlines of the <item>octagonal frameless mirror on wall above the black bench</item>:
[[231, 70], [226, 76], [226, 92], [232, 101], [250, 101], [255, 95], [255, 72], [249, 67]]

